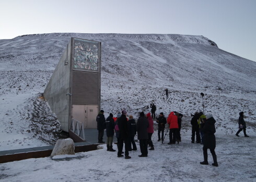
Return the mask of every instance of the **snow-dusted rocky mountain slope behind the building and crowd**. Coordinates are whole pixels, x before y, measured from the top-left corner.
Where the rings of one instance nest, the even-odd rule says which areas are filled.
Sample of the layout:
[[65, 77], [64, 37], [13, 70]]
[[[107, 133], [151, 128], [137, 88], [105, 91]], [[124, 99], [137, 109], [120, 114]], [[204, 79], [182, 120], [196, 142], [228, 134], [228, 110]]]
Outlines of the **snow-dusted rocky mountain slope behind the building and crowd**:
[[[59, 123], [39, 93], [71, 37], [102, 42], [101, 106], [107, 113], [125, 108], [136, 117], [154, 102], [157, 113], [181, 112], [189, 126], [190, 113], [203, 109], [203, 92], [204, 111], [217, 119], [217, 132], [236, 131], [242, 110], [254, 131], [256, 62], [227, 53], [204, 36], [35, 34], [0, 40], [0, 150], [55, 141], [51, 133]], [[167, 100], [165, 88], [170, 92]]]

